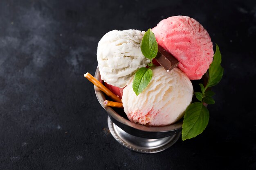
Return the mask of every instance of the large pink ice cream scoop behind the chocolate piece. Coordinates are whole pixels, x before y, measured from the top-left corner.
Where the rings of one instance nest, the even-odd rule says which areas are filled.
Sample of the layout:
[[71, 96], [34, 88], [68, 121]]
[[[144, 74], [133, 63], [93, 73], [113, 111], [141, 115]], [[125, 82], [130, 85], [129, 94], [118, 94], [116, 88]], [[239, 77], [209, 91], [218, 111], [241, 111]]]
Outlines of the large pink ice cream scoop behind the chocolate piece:
[[168, 17], [152, 31], [157, 43], [173, 54], [189, 79], [202, 78], [213, 61], [213, 44], [198, 21], [186, 16]]

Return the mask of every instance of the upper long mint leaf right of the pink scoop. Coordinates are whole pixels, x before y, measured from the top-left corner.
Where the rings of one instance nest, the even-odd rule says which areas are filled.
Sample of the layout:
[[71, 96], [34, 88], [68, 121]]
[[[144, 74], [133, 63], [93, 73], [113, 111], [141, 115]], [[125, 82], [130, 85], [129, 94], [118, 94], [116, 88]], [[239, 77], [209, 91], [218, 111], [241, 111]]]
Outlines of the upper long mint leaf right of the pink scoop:
[[220, 54], [219, 47], [216, 44], [216, 51], [213, 56], [213, 62], [209, 67], [209, 79], [205, 89], [207, 89], [208, 87], [214, 86], [220, 82], [223, 75], [223, 68], [221, 67], [220, 63], [221, 63], [221, 54]]

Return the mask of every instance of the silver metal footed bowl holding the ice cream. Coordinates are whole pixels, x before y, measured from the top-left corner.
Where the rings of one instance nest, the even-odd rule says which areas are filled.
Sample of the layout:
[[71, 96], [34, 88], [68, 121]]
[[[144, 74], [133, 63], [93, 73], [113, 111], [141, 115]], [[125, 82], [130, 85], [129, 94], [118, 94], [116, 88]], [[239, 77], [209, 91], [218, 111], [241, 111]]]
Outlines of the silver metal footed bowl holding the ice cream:
[[[94, 77], [102, 83], [98, 68]], [[94, 89], [99, 103], [108, 113], [110, 133], [122, 146], [139, 153], [157, 153], [169, 148], [180, 138], [183, 120], [159, 127], [130, 122], [124, 109], [104, 105], [103, 102], [108, 98], [98, 87], [94, 86]]]

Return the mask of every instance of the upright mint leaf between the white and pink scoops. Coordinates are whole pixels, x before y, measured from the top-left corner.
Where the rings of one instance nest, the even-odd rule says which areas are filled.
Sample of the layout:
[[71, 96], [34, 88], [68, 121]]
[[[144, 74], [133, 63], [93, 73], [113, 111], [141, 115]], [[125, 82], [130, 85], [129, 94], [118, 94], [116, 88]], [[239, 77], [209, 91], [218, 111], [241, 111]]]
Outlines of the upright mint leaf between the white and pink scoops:
[[148, 29], [148, 31], [146, 31], [142, 38], [141, 52], [148, 59], [153, 59], [157, 56], [157, 40], [155, 39], [155, 35], [150, 28]]

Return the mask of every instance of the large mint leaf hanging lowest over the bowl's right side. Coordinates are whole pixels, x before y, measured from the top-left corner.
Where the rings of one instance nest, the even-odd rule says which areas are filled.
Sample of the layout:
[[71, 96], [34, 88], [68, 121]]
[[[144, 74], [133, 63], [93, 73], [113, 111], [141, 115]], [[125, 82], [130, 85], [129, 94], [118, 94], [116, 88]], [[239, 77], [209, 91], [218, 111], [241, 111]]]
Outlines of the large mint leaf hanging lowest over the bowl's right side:
[[209, 121], [209, 111], [202, 102], [190, 104], [182, 124], [182, 140], [191, 139], [204, 131]]

